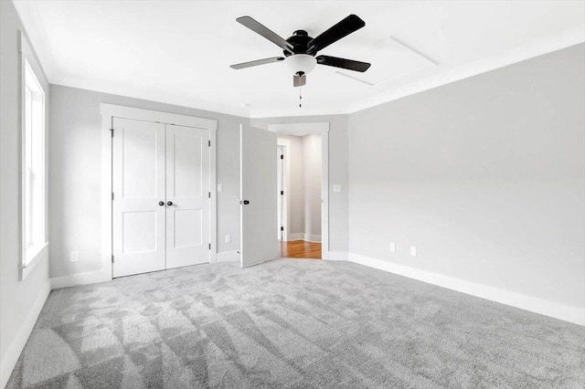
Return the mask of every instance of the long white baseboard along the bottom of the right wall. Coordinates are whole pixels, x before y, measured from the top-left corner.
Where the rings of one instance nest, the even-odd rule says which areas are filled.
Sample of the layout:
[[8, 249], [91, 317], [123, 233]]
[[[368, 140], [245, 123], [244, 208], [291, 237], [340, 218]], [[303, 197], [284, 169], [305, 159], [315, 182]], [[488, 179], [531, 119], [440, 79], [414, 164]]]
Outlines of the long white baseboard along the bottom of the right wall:
[[570, 321], [575, 324], [585, 325], [585, 309], [572, 307], [558, 302], [543, 300], [532, 296], [527, 296], [510, 290], [499, 289], [463, 279], [454, 279], [448, 276], [431, 273], [418, 268], [410, 268], [396, 263], [388, 262], [378, 258], [369, 258], [358, 254], [349, 253], [348, 260], [351, 262], [365, 265], [370, 268], [378, 268], [399, 276], [410, 279], [418, 279], [429, 284], [437, 285], [442, 288], [457, 290], [475, 297], [486, 300], [496, 301], [505, 305], [530, 310], [541, 315], [550, 316], [560, 319], [561, 321]]

